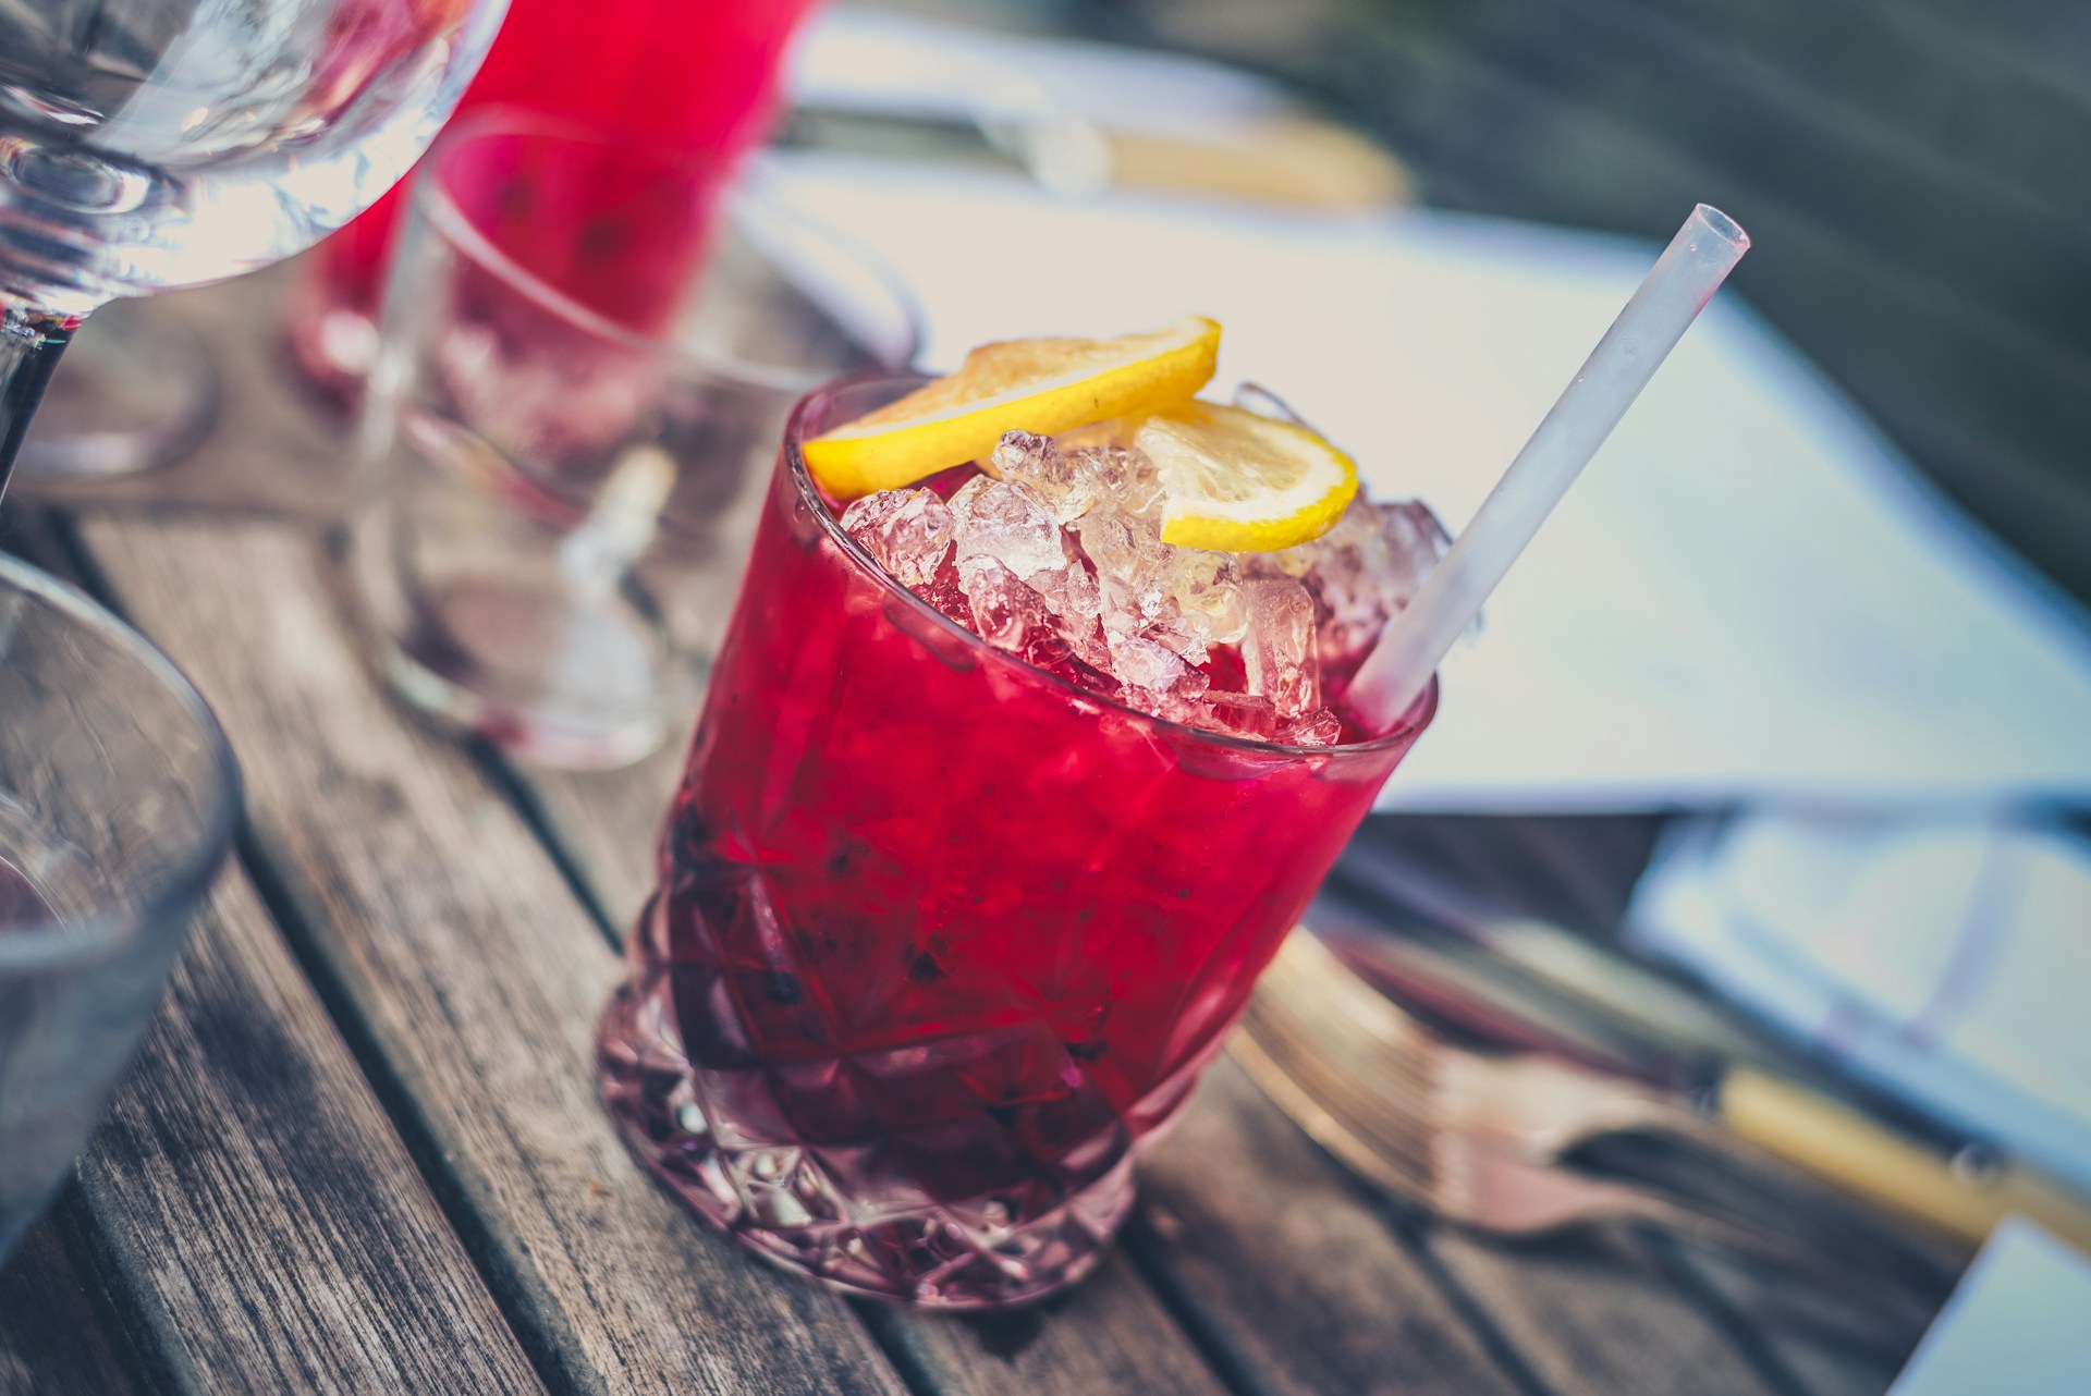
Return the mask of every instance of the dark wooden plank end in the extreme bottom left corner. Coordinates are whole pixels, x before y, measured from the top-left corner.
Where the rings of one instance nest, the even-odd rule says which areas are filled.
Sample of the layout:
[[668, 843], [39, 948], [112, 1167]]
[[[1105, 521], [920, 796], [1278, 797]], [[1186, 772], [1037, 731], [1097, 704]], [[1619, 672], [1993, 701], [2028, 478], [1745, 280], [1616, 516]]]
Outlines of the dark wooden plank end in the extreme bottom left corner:
[[115, 1344], [46, 1218], [0, 1266], [0, 1396], [134, 1396]]

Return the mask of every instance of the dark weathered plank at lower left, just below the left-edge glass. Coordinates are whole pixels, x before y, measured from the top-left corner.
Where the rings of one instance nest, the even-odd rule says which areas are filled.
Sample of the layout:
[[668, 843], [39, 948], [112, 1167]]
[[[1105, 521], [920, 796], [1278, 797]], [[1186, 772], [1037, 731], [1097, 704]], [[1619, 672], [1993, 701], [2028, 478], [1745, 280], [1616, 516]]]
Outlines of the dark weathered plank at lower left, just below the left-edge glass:
[[79, 1193], [161, 1390], [544, 1390], [238, 869]]

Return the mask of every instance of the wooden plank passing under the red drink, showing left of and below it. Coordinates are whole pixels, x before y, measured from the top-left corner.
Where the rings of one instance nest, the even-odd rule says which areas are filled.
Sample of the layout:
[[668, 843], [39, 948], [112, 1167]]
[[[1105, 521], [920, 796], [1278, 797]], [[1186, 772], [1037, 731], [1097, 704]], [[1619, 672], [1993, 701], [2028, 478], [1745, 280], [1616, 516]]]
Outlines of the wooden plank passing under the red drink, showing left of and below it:
[[[654, 842], [682, 746], [627, 771], [519, 771], [531, 802], [623, 934], [654, 884]], [[876, 1310], [887, 1346], [939, 1392], [1087, 1396], [1217, 1394], [1211, 1369], [1123, 1256], [1035, 1310], [945, 1319]]]

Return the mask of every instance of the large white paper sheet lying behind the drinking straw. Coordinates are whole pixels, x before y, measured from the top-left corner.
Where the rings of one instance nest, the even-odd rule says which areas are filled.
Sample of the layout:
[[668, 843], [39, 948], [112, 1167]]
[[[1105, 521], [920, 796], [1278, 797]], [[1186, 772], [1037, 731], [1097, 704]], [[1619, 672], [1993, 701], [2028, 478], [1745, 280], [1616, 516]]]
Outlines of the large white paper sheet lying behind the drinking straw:
[[[1453, 529], [1658, 251], [1428, 211], [1071, 203], [841, 157], [761, 176], [914, 284], [924, 364], [1204, 311], [1225, 324], [1221, 391], [1271, 387], [1376, 495], [1420, 495]], [[1723, 293], [1447, 660], [1382, 807], [2091, 796], [2087, 713], [2091, 623]]]

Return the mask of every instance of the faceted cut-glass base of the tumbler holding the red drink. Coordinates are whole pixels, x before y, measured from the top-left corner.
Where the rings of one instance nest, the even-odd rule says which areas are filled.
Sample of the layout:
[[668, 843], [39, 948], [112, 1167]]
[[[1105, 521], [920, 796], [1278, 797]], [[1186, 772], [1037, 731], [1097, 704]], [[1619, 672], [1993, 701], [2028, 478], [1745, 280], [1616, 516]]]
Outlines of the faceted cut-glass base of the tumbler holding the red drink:
[[845, 1183], [861, 1162], [853, 1156], [870, 1149], [738, 1135], [698, 1099], [698, 1072], [675, 1049], [665, 1011], [629, 982], [611, 999], [598, 1034], [604, 1103], [677, 1197], [784, 1269], [924, 1308], [1004, 1308], [1087, 1275], [1133, 1206], [1133, 1154], [1119, 1126], [1096, 1141], [1117, 1162], [1043, 1206], [1022, 1187], [935, 1202], [893, 1177], [876, 1189]]

